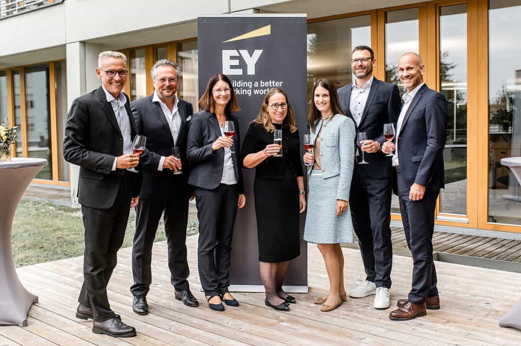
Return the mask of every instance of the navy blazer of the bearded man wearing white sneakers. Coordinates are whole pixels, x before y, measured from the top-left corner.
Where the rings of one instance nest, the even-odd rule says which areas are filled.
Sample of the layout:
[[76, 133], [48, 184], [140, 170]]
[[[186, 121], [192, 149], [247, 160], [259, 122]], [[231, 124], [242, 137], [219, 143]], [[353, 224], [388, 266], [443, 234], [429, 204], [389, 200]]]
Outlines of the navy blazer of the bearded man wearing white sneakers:
[[[338, 96], [342, 110], [346, 116], [353, 120], [356, 126], [353, 114], [351, 114], [349, 108], [352, 87], [353, 85], [349, 84], [339, 88]], [[383, 145], [386, 142], [386, 139], [383, 137], [383, 124], [394, 123], [394, 127], [396, 127], [401, 107], [402, 100], [398, 86], [373, 78], [364, 112], [362, 113], [362, 119], [360, 124], [356, 126], [354, 145], [357, 146], [356, 137], [358, 132], [366, 132], [368, 139], [376, 140], [380, 143], [380, 146]], [[386, 156], [381, 151], [374, 153], [366, 152], [364, 156], [370, 164], [355, 164], [355, 170], [363, 170], [366, 175], [375, 179], [391, 177], [391, 157]]]

